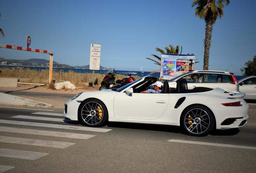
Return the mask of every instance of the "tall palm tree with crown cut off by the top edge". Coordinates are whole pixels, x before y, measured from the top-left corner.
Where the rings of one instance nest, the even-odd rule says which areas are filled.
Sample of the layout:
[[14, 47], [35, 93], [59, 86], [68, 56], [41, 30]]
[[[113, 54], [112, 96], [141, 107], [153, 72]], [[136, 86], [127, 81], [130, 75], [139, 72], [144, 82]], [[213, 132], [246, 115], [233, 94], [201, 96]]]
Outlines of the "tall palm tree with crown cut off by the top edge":
[[196, 6], [195, 15], [204, 18], [205, 38], [204, 38], [204, 70], [209, 68], [209, 54], [211, 47], [211, 37], [213, 32], [213, 24], [216, 19], [223, 16], [224, 5], [229, 4], [229, 0], [195, 0], [192, 7]]

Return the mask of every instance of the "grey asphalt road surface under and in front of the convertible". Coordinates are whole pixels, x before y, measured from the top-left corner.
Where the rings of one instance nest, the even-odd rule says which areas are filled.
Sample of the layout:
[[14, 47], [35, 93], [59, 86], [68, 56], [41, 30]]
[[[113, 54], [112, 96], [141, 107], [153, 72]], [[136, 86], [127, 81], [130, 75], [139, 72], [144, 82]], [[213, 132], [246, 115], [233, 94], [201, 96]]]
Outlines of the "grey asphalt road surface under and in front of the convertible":
[[[7, 149], [15, 150], [12, 157], [0, 156], [0, 172], [1, 168], [6, 168], [1, 165], [5, 165], [14, 168], [4, 171], [4, 173], [255, 173], [256, 104], [251, 103], [249, 105], [250, 117], [247, 125], [240, 129], [215, 131], [206, 137], [184, 135], [180, 133], [178, 127], [129, 123], [108, 123], [105, 127], [94, 128], [111, 129], [107, 132], [84, 131], [77, 129], [84, 126], [76, 121], [64, 122], [62, 121], [63, 117], [53, 116], [52, 113], [62, 113], [62, 109], [40, 110], [0, 107], [0, 155], [7, 155], [9, 152]], [[43, 113], [32, 114], [37, 112]], [[42, 115], [45, 112], [52, 115]], [[45, 119], [14, 117], [18, 115], [29, 116], [29, 118], [44, 117]], [[21, 122], [8, 123], [14, 121]], [[24, 122], [30, 123], [21, 125]], [[33, 123], [41, 124], [32, 126]], [[48, 124], [47, 127], [44, 127], [45, 124]], [[70, 125], [73, 128], [64, 129], [60, 125], [65, 125], [65, 127]], [[7, 127], [18, 129], [15, 132], [10, 132]], [[36, 135], [26, 134], [24, 129], [29, 129], [28, 131], [36, 133]], [[47, 134], [38, 135], [40, 130], [43, 130], [44, 133], [54, 131], [54, 134], [58, 132], [73, 133], [69, 137], [75, 137], [77, 134], [95, 136], [91, 136], [89, 139], [53, 137]], [[12, 140], [14, 142], [7, 143], [7, 137], [15, 137], [15, 140]], [[35, 141], [30, 141], [29, 145], [24, 145], [17, 138], [46, 140], [48, 146], [37, 146]], [[182, 142], [228, 144], [232, 147], [169, 142], [173, 139]], [[66, 148], [54, 148], [52, 141], [73, 144]], [[40, 144], [42, 143], [40, 142]], [[248, 149], [248, 147], [253, 148]], [[34, 160], [21, 159], [14, 158], [18, 155], [16, 150], [48, 154]]]

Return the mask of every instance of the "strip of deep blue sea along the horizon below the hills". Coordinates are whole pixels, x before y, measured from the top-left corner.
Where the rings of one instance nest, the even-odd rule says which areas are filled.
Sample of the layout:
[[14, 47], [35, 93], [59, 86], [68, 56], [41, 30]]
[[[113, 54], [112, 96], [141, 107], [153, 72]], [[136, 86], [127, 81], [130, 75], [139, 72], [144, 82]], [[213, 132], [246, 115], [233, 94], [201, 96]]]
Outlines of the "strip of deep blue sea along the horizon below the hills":
[[[18, 66], [18, 65], [0, 65], [0, 68], [29, 68], [31, 70], [45, 70], [48, 69], [49, 67], [39, 67], [39, 66]], [[56, 72], [63, 71], [63, 72], [68, 72], [68, 71], [74, 71], [77, 73], [92, 73], [93, 70], [89, 69], [82, 69], [82, 68], [59, 68], [59, 67], [53, 67], [53, 70]], [[99, 74], [106, 74], [108, 70], [95, 70], [95, 73]], [[126, 70], [116, 70], [116, 74], [122, 74], [127, 76], [128, 74], [132, 74], [132, 76], [147, 76], [149, 75], [150, 72], [143, 72], [143, 71], [126, 71]], [[159, 77], [160, 72], [155, 72], [151, 74], [151, 76]], [[244, 76], [235, 76], [237, 80], [240, 80], [244, 78]]]

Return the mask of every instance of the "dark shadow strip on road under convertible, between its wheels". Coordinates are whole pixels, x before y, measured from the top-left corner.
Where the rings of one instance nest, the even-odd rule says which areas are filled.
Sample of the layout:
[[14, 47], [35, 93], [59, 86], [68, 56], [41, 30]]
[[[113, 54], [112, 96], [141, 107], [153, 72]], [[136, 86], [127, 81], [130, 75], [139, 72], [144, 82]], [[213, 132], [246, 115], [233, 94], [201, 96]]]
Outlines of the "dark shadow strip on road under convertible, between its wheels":
[[148, 124], [138, 124], [138, 123], [108, 122], [107, 127], [117, 127], [117, 128], [125, 128], [125, 129], [140, 129], [140, 130], [149, 130], [149, 131], [164, 131], [164, 132], [180, 133], [180, 127], [178, 127], [178, 126], [169, 126], [169, 125], [148, 125]]

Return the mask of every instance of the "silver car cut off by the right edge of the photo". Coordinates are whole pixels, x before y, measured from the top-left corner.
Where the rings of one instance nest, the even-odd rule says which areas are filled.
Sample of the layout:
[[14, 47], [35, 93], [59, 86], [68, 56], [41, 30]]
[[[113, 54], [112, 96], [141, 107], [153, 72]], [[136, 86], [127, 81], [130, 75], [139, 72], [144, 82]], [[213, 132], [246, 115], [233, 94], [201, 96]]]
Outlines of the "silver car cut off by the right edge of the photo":
[[238, 81], [239, 91], [245, 93], [244, 99], [256, 100], [256, 76], [248, 76]]

